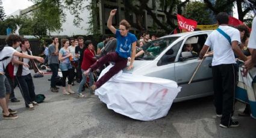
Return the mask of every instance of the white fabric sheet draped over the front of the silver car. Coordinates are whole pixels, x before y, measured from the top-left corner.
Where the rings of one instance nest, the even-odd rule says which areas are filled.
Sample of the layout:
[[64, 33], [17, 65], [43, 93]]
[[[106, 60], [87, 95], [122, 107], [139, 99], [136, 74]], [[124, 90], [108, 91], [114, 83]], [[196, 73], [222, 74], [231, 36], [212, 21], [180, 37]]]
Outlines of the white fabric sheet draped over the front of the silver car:
[[[99, 78], [113, 65], [105, 68]], [[120, 71], [96, 89], [95, 94], [108, 109], [141, 121], [166, 116], [181, 87], [176, 82], [155, 77], [138, 76]]]

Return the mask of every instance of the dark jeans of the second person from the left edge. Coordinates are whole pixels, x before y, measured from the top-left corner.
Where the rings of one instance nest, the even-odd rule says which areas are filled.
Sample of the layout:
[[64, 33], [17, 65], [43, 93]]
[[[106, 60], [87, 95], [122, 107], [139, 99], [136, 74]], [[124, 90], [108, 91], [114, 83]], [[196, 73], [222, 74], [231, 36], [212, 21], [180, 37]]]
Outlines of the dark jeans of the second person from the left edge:
[[35, 100], [35, 88], [31, 74], [25, 76], [16, 76], [17, 83], [20, 88], [20, 92], [24, 98], [25, 106], [31, 104]]

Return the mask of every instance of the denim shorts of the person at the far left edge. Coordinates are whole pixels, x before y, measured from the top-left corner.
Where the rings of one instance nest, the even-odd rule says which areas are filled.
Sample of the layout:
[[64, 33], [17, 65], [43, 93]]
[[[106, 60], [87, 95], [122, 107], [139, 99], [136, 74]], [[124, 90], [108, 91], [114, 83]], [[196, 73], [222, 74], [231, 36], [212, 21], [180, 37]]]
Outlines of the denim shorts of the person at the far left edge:
[[5, 98], [6, 94], [11, 93], [11, 85], [5, 75], [0, 74], [0, 98]]

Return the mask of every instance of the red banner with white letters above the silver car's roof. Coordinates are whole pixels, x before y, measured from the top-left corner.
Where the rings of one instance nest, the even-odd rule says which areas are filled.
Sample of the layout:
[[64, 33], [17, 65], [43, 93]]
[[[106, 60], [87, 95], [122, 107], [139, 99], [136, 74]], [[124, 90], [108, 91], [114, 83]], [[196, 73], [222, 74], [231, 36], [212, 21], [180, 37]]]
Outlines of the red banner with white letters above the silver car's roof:
[[178, 26], [180, 29], [186, 29], [187, 31], [194, 31], [198, 22], [191, 19], [186, 19], [185, 17], [177, 14]]

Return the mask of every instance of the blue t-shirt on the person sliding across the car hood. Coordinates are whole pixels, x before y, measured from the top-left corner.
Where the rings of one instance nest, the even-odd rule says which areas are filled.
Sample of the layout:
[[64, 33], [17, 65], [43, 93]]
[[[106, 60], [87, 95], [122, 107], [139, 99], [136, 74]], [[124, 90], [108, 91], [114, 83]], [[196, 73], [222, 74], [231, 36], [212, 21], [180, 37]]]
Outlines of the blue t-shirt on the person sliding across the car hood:
[[120, 34], [120, 31], [116, 29], [116, 39], [117, 39], [117, 46], [116, 52], [122, 58], [128, 58], [131, 55], [132, 44], [137, 41], [137, 38], [134, 34], [128, 32], [126, 37], [123, 37]]

